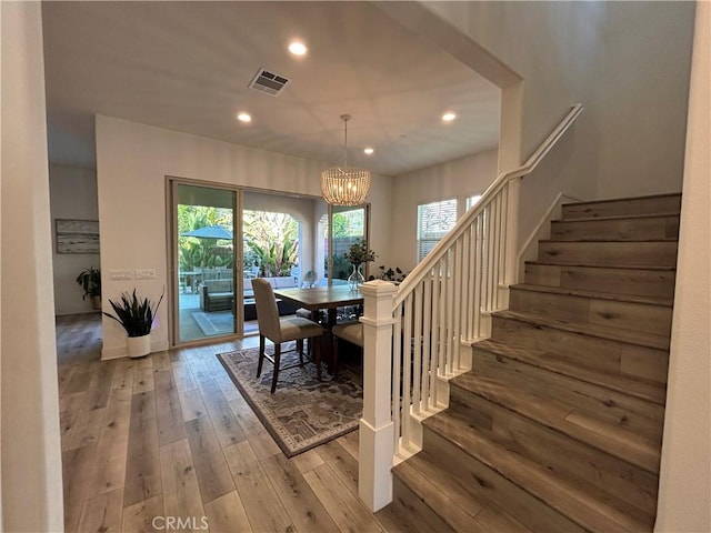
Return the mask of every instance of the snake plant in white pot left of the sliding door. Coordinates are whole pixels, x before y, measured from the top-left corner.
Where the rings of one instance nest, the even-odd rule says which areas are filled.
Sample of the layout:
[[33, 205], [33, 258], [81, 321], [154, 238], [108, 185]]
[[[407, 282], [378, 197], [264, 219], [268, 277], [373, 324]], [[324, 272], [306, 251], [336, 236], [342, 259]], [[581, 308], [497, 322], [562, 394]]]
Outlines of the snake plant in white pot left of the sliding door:
[[163, 293], [156, 305], [148, 298], [139, 298], [136, 289], [132, 294], [122, 292], [118, 302], [109, 300], [116, 314], [106, 311], [103, 314], [116, 320], [126, 330], [128, 335], [126, 348], [129, 356], [141, 358], [151, 353], [151, 328], [160, 302], [163, 301]]

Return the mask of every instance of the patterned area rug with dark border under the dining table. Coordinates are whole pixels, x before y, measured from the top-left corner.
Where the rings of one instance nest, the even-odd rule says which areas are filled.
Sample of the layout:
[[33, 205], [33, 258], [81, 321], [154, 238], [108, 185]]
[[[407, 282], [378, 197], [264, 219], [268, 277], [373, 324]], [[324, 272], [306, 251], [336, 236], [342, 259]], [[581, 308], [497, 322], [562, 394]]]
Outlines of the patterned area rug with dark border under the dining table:
[[[284, 344], [282, 350], [291, 348], [293, 344]], [[273, 346], [268, 344], [267, 351], [272, 353]], [[257, 379], [259, 349], [219, 353], [218, 359], [288, 457], [358, 429], [363, 409], [359, 368], [343, 364], [337, 379], [324, 370], [318, 381], [314, 363], [307, 362], [280, 371], [271, 394], [269, 361], [264, 361], [262, 375]], [[282, 353], [281, 361], [283, 369], [297, 362], [298, 354]]]

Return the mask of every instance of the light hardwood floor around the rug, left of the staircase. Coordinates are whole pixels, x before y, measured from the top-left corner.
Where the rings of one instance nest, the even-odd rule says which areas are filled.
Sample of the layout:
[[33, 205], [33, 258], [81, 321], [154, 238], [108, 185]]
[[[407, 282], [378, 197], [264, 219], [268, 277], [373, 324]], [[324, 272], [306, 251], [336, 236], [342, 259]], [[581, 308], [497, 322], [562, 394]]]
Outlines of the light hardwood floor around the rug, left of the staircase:
[[358, 432], [287, 459], [214, 356], [100, 361], [99, 314], [58, 318], [67, 532], [400, 531], [358, 499]]

